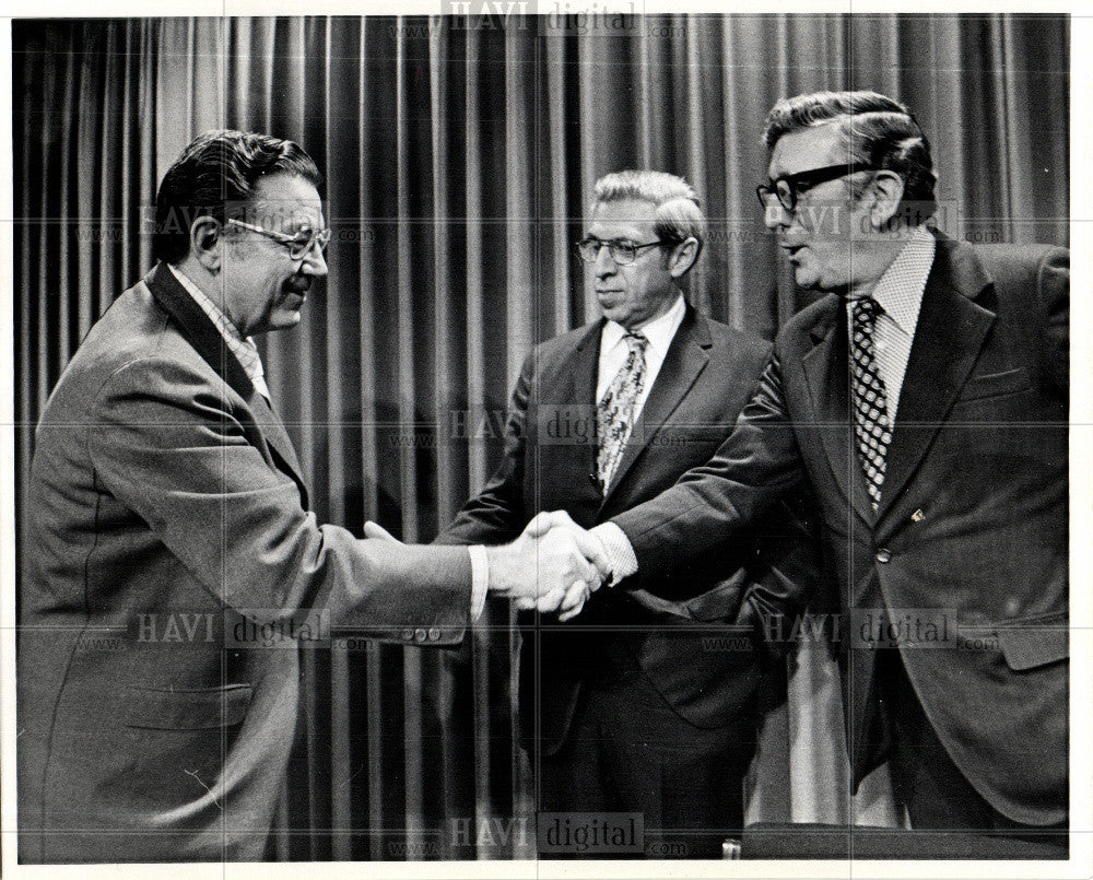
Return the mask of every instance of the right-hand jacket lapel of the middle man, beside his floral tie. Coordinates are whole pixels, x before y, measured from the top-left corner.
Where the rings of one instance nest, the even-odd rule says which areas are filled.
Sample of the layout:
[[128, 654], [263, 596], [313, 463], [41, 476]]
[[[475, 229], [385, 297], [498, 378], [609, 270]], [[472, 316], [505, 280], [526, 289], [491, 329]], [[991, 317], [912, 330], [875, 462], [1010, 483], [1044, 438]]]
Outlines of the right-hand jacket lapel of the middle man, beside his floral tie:
[[657, 380], [649, 389], [649, 396], [642, 408], [639, 422], [635, 425], [634, 434], [626, 444], [619, 467], [611, 478], [611, 484], [603, 494], [604, 502], [619, 488], [626, 472], [663, 427], [698, 375], [706, 368], [709, 362], [707, 352], [712, 344], [709, 328], [698, 320], [695, 310], [687, 305], [683, 320], [680, 321], [672, 343], [668, 347], [668, 354], [660, 365]]

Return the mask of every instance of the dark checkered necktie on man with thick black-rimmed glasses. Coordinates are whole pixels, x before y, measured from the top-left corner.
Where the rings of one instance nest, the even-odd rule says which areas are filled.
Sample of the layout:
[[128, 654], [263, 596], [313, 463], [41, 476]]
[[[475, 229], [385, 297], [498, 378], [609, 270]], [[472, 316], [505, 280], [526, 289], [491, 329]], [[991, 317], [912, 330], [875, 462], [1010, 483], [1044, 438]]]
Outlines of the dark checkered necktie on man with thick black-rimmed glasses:
[[858, 439], [858, 459], [866, 473], [866, 489], [873, 513], [877, 513], [884, 482], [884, 456], [892, 443], [884, 380], [877, 372], [877, 359], [873, 356], [873, 326], [881, 307], [870, 297], [855, 302], [853, 309], [850, 373], [854, 379], [854, 433]]

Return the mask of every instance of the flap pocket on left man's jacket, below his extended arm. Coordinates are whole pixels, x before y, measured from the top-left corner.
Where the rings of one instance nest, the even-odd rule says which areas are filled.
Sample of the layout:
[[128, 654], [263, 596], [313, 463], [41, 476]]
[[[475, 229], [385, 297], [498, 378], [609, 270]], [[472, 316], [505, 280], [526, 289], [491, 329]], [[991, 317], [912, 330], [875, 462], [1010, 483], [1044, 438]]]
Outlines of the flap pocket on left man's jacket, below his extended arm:
[[228, 684], [197, 690], [127, 689], [122, 719], [127, 727], [154, 730], [209, 730], [242, 724], [254, 688]]

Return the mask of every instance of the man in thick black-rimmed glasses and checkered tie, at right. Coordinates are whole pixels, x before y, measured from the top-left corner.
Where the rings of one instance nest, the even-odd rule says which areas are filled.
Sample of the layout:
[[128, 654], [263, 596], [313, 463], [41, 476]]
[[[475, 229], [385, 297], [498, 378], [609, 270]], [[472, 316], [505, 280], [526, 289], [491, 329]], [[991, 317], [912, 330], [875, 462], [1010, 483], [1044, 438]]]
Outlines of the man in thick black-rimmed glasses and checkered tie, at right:
[[1068, 253], [922, 225], [929, 144], [891, 98], [785, 99], [765, 139], [766, 225], [825, 296], [779, 332], [717, 454], [598, 527], [626, 577], [611, 589], [704, 559], [808, 483], [855, 783], [888, 759], [916, 829], [1063, 830]]

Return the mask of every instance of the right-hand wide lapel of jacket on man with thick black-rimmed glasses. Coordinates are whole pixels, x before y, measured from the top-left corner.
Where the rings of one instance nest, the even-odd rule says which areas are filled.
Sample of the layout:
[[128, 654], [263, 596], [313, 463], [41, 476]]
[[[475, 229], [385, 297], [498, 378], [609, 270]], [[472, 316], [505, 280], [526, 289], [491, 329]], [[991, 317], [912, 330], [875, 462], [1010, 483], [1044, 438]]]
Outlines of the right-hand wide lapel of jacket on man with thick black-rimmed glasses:
[[989, 283], [971, 248], [939, 236], [900, 394], [879, 515], [922, 460], [979, 356], [995, 313], [973, 300]]

